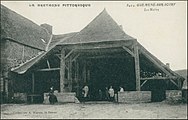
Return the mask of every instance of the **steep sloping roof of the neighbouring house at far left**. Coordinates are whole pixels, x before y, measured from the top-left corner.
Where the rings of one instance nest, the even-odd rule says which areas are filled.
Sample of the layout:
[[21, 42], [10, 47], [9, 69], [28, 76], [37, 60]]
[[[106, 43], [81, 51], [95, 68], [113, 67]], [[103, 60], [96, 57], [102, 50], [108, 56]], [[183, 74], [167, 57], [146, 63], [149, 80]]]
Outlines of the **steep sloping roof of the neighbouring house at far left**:
[[46, 30], [27, 18], [1, 5], [1, 40], [9, 38], [15, 42], [44, 50], [50, 35]]

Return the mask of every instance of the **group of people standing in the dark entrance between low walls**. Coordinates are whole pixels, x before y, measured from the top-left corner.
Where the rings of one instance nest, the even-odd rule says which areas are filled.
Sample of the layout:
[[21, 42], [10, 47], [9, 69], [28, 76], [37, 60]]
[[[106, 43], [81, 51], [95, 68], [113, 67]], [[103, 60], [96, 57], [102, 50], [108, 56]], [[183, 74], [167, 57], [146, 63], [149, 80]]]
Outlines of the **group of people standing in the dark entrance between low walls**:
[[[123, 87], [119, 87], [119, 92], [124, 92]], [[91, 98], [91, 96], [92, 96], [91, 94], [94, 94], [94, 93], [91, 93], [89, 90], [89, 87], [87, 85], [85, 85], [82, 88], [83, 100], [85, 101], [85, 100], [88, 100], [89, 98]], [[96, 92], [95, 92], [95, 94], [96, 94]], [[108, 89], [108, 87], [105, 87], [105, 89], [98, 89], [97, 99], [98, 100], [114, 101], [115, 95], [117, 95], [117, 91], [115, 91], [112, 86], [110, 86], [109, 89]], [[96, 97], [96, 95], [94, 97]]]

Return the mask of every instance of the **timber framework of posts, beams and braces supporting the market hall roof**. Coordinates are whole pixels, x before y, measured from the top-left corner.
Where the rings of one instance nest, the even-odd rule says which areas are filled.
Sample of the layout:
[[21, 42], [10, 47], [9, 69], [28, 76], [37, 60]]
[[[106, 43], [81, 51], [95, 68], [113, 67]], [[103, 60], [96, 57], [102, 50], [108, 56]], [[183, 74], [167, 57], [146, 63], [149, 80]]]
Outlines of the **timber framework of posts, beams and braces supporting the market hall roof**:
[[[115, 49], [113, 49], [115, 48]], [[85, 44], [74, 44], [74, 45], [65, 45], [65, 46], [59, 46], [59, 49], [61, 49], [61, 65], [60, 65], [60, 86], [61, 86], [61, 91], [64, 92], [71, 92], [72, 90], [72, 64], [78, 64], [77, 59], [81, 56], [82, 53], [87, 53], [87, 54], [92, 54], [92, 52], [94, 52], [95, 54], [88, 57], [88, 58], [93, 58], [93, 59], [97, 59], [97, 58], [103, 58], [103, 57], [113, 57], [113, 56], [105, 56], [105, 55], [98, 55], [95, 56], [96, 53], [98, 53], [100, 51], [101, 52], [108, 52], [108, 50], [106, 49], [111, 49], [110, 52], [116, 52], [118, 51], [117, 48], [121, 48], [122, 50], [124, 50], [125, 52], [127, 52], [131, 57], [134, 58], [134, 62], [135, 62], [135, 75], [136, 75], [136, 90], [140, 91], [141, 87], [144, 86], [144, 84], [148, 81], [148, 80], [158, 80], [158, 79], [162, 79], [162, 80], [170, 80], [175, 86], [177, 86], [179, 89], [181, 87], [181, 84], [177, 84], [174, 80], [177, 79], [177, 77], [173, 76], [170, 72], [168, 72], [165, 68], [163, 68], [163, 66], [156, 62], [154, 58], [152, 58], [152, 56], [148, 55], [147, 51], [137, 42], [137, 40], [131, 40], [131, 41], [110, 41], [110, 42], [101, 42], [101, 43], [85, 43]], [[67, 53], [65, 52], [66, 50], [69, 50]], [[66, 54], [65, 54], [66, 53]], [[166, 76], [163, 77], [147, 77], [147, 78], [141, 78], [140, 76], [140, 57], [139, 54], [143, 53], [144, 55], [146, 55], [146, 57], [151, 60], [156, 67], [158, 67], [159, 69], [161, 69]], [[85, 60], [87, 59], [87, 57], [84, 57]], [[85, 61], [84, 60], [84, 61]], [[86, 81], [86, 77], [87, 74], [89, 74], [85, 68], [85, 62], [84, 66], [83, 66], [83, 82]], [[73, 63], [75, 62], [75, 63]], [[65, 78], [65, 69], [67, 69], [68, 71], [68, 77]], [[78, 68], [75, 68], [76, 70], [78, 70]], [[76, 81], [78, 81], [78, 72], [76, 71]], [[141, 83], [141, 81], [143, 81]], [[68, 87], [68, 91], [65, 90], [66, 87]]]

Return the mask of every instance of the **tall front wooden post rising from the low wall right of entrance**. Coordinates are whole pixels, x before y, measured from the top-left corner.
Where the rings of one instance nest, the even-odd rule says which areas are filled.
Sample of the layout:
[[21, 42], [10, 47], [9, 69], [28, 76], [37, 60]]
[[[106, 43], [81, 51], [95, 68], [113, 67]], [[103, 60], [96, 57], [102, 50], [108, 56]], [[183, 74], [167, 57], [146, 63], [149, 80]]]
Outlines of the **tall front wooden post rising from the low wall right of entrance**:
[[139, 63], [139, 53], [137, 42], [134, 44], [134, 53], [135, 53], [135, 75], [136, 75], [136, 90], [140, 91], [140, 63]]

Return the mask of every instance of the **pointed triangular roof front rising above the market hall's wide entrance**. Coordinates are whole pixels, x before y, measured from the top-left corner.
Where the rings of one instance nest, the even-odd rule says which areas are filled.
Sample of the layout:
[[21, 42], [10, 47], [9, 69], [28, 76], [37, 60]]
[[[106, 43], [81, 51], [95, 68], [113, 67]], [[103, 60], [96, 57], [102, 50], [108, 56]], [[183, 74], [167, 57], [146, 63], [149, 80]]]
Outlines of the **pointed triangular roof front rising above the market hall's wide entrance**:
[[64, 41], [64, 44], [131, 39], [134, 38], [127, 35], [104, 9], [93, 21], [91, 21], [72, 39]]

